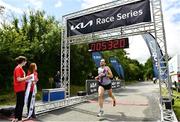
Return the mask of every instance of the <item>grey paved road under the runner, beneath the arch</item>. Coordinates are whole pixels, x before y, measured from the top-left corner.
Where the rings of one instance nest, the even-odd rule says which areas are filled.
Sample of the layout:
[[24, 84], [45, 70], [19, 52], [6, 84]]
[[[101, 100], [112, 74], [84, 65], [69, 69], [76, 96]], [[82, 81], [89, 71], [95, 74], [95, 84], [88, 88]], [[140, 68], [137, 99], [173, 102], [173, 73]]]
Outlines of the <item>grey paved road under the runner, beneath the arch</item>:
[[104, 116], [97, 117], [97, 98], [48, 112], [38, 121], [159, 121], [159, 87], [153, 82], [139, 82], [114, 91], [117, 105], [105, 93]]

